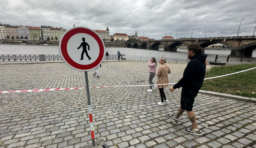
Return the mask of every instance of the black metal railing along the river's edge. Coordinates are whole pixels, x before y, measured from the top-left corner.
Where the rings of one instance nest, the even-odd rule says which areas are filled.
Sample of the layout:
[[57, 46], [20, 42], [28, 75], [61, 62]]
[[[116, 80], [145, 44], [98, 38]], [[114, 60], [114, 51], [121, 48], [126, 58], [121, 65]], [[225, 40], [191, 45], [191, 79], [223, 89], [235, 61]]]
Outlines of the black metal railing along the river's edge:
[[[121, 55], [122, 60], [132, 61], [149, 61], [152, 57], [150, 56], [138, 56], [138, 55]], [[156, 61], [159, 61], [161, 57], [155, 57]], [[166, 58], [166, 57], [165, 57]], [[59, 61], [62, 60], [60, 55], [44, 55], [45, 61]], [[109, 55], [109, 60], [117, 60], [117, 55]], [[106, 56], [104, 56], [106, 60]], [[40, 55], [0, 55], [0, 61], [40, 61]], [[184, 58], [166, 58], [167, 62], [175, 63], [188, 63], [190, 60]], [[207, 63], [214, 62], [214, 60], [207, 60]], [[221, 62], [221, 61], [215, 61]]]

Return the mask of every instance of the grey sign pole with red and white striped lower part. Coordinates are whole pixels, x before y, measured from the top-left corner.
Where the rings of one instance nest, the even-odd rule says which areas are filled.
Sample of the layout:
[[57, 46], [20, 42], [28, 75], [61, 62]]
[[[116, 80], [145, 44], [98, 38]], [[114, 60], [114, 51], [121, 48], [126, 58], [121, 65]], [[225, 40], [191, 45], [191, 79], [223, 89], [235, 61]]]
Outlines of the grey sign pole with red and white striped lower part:
[[87, 103], [88, 103], [88, 107], [89, 107], [89, 119], [90, 119], [90, 127], [91, 127], [91, 140], [92, 140], [93, 146], [95, 146], [94, 131], [93, 131], [93, 116], [91, 115], [91, 101], [90, 101], [90, 91], [89, 91], [89, 82], [88, 82], [87, 71], [84, 72], [84, 75], [85, 75]]

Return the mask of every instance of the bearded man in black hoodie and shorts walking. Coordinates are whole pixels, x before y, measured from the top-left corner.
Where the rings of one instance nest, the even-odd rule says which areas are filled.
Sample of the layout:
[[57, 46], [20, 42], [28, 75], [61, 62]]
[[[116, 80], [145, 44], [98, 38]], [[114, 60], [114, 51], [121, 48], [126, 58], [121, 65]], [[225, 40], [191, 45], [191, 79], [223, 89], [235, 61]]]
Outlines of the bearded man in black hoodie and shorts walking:
[[179, 117], [187, 111], [188, 118], [192, 123], [191, 128], [187, 128], [186, 132], [194, 135], [201, 135], [201, 131], [197, 127], [196, 116], [192, 110], [193, 103], [201, 89], [205, 75], [207, 55], [202, 55], [203, 49], [196, 43], [192, 43], [187, 47], [188, 59], [190, 61], [184, 70], [181, 80], [170, 88], [174, 91], [176, 88], [182, 87], [181, 90], [181, 106], [178, 113], [174, 115], [168, 114], [168, 117], [175, 123], [178, 123]]

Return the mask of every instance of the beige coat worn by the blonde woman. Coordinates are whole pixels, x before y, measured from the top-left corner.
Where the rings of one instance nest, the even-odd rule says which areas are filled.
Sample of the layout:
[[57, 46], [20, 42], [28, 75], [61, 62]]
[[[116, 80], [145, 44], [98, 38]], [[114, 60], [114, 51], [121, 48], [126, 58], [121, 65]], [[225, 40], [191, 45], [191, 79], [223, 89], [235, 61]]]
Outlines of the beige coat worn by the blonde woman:
[[[167, 84], [168, 83], [168, 73], [171, 73], [170, 67], [164, 63], [159, 67], [156, 75], [158, 76], [157, 84]], [[157, 85], [157, 88], [166, 88], [168, 85]]]

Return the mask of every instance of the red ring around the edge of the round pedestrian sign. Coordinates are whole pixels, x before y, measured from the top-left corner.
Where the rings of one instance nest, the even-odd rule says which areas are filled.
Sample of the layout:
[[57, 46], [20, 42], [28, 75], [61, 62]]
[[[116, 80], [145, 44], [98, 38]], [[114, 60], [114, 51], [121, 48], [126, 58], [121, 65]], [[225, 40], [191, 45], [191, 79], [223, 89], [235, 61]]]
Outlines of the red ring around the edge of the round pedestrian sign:
[[[90, 36], [92, 36], [98, 43], [99, 45], [99, 56], [98, 58], [91, 64], [87, 64], [87, 65], [83, 65], [83, 64], [79, 64], [76, 63], [75, 61], [73, 61], [69, 54], [68, 54], [68, 50], [67, 50], [67, 45], [68, 45], [68, 41], [69, 39], [77, 34], [77, 33], [86, 33]], [[86, 71], [86, 70], [91, 70], [96, 68], [103, 60], [104, 58], [104, 45], [102, 43], [102, 40], [100, 39], [99, 35], [96, 34], [95, 32], [93, 32], [90, 29], [87, 28], [74, 28], [71, 29], [69, 31], [66, 32], [66, 34], [63, 36], [63, 38], [61, 39], [61, 43], [60, 43], [60, 50], [61, 50], [61, 55], [62, 58], [73, 68], [78, 69], [78, 70], [82, 70], [82, 71]]]

